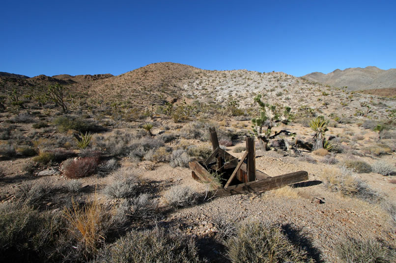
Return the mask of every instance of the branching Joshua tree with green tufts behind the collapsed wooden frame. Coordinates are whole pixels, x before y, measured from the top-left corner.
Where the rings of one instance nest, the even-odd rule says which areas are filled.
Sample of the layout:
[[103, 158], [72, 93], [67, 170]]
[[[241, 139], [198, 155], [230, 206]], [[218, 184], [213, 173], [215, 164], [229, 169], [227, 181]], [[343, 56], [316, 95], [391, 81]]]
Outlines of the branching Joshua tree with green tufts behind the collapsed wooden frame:
[[[261, 112], [260, 117], [252, 119], [253, 131], [259, 139], [263, 150], [266, 151], [267, 145], [271, 139], [274, 139], [281, 133], [292, 135], [292, 133], [289, 131], [281, 130], [279, 132], [275, 132], [275, 134], [271, 136], [271, 129], [272, 127], [276, 126], [277, 122], [288, 121], [290, 117], [290, 108], [286, 107], [283, 111], [283, 114], [281, 115], [277, 112], [275, 105], [269, 105], [268, 103], [262, 102], [261, 95], [255, 96], [255, 102], [257, 102], [257, 104], [260, 106]], [[263, 127], [265, 130], [263, 129]]]

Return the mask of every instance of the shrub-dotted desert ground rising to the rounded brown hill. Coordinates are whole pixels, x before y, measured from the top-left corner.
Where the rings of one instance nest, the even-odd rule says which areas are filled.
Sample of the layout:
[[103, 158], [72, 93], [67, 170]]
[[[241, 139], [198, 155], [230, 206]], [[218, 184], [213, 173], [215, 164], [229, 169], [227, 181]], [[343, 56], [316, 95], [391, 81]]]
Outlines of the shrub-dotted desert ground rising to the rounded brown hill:
[[396, 97], [344, 86], [1, 73], [0, 261], [394, 263]]

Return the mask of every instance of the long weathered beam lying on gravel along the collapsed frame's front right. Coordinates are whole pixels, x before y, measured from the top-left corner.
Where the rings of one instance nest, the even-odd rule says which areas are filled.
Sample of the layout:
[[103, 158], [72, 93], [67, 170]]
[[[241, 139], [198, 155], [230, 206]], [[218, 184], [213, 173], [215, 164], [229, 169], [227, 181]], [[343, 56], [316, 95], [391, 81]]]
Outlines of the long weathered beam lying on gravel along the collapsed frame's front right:
[[235, 186], [229, 186], [227, 189], [218, 189], [216, 196], [227, 196], [232, 194], [269, 191], [272, 189], [282, 188], [283, 186], [308, 180], [308, 172], [298, 171], [287, 173], [275, 177], [265, 178], [259, 181], [248, 182]]

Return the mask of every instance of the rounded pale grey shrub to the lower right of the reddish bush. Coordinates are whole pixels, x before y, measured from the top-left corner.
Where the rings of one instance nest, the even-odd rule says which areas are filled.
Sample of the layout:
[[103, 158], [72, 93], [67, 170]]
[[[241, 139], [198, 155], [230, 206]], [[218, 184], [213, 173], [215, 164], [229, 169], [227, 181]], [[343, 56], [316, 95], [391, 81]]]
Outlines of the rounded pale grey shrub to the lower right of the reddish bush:
[[125, 169], [118, 170], [113, 175], [113, 182], [107, 185], [103, 192], [110, 198], [128, 198], [135, 196], [138, 189], [138, 178]]

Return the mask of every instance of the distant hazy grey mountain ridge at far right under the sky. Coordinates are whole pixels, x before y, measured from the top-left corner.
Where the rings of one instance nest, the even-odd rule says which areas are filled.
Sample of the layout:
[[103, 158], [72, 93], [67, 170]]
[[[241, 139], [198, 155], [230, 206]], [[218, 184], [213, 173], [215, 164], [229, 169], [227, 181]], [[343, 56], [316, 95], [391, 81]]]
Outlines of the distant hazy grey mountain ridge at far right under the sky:
[[348, 91], [384, 89], [396, 87], [396, 69], [381, 70], [377, 67], [337, 69], [328, 74], [312, 72], [302, 76], [309, 81], [335, 87], [348, 87]]

